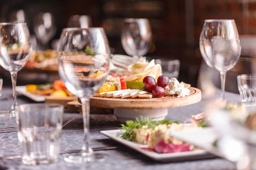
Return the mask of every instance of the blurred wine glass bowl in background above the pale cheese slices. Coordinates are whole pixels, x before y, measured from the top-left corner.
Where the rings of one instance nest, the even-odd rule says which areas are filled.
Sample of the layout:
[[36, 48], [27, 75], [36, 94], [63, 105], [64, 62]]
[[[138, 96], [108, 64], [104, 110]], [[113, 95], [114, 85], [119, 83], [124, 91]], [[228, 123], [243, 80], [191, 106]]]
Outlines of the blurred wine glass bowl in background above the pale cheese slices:
[[151, 27], [148, 19], [125, 19], [121, 34], [124, 51], [130, 56], [141, 57], [149, 50], [152, 39]]

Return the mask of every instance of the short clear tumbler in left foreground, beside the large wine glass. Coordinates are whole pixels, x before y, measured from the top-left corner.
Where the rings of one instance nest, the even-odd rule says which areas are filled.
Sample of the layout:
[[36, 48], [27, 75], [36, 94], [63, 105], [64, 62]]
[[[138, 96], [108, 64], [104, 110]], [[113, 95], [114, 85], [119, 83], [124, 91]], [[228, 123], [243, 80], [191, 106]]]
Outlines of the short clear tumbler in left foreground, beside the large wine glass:
[[24, 164], [47, 164], [58, 160], [63, 108], [60, 104], [21, 104], [15, 107]]

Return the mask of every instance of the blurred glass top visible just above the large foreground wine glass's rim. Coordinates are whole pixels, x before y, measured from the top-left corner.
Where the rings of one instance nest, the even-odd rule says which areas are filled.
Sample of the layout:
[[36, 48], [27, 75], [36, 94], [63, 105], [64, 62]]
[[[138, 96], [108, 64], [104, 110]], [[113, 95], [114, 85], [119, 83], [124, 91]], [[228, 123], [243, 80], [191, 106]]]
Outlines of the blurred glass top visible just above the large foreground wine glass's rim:
[[89, 28], [91, 26], [91, 17], [89, 15], [72, 15], [69, 17], [69, 28]]

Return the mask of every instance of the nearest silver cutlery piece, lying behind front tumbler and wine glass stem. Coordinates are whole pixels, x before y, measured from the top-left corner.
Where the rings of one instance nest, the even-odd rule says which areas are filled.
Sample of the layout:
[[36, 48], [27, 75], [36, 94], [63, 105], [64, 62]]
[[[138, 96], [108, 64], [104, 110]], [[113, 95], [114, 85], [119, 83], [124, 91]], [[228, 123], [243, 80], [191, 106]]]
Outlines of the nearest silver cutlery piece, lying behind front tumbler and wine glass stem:
[[[98, 150], [112, 150], [112, 149], [117, 149], [117, 147], [95, 147], [92, 148], [93, 151], [98, 151]], [[70, 154], [70, 153], [79, 153], [81, 152], [81, 149], [78, 150], [63, 150], [60, 151], [60, 154]], [[0, 156], [0, 159], [20, 159], [21, 155], [11, 155], [11, 156]]]

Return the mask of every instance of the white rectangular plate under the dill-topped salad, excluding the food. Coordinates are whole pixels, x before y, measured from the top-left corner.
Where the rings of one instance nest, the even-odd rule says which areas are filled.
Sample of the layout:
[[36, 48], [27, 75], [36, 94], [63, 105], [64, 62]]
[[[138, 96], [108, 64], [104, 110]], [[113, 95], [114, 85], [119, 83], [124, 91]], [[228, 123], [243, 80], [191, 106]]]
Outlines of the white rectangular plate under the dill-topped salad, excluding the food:
[[181, 160], [191, 160], [191, 159], [203, 159], [203, 158], [212, 158], [214, 155], [208, 153], [205, 150], [195, 150], [188, 152], [176, 152], [176, 153], [156, 153], [153, 151], [144, 150], [142, 148], [147, 147], [147, 145], [139, 144], [136, 142], [131, 142], [119, 137], [121, 130], [109, 130], [109, 131], [101, 131], [105, 136], [120, 142], [148, 157], [154, 159], [156, 161], [161, 162], [173, 162], [173, 161], [181, 161]]

